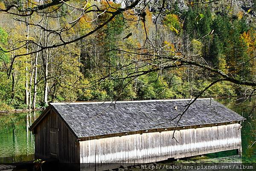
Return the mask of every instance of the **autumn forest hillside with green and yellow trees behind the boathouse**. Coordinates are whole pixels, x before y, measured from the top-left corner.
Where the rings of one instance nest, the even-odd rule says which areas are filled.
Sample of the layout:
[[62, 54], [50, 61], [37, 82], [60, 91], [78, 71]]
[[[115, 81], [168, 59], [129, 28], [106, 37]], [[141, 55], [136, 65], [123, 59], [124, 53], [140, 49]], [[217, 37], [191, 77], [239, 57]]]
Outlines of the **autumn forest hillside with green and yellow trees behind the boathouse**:
[[[223, 76], [201, 97], [255, 93], [235, 83], [256, 82], [256, 0], [147, 2], [140, 15], [135, 8], [114, 13], [132, 0], [71, 0], [17, 15], [41, 1], [0, 0], [0, 110], [56, 101], [191, 98], [221, 78], [217, 72], [234, 81]], [[18, 8], [5, 10], [13, 4]], [[73, 6], [99, 12], [81, 15]], [[80, 39], [111, 14], [110, 22]]]

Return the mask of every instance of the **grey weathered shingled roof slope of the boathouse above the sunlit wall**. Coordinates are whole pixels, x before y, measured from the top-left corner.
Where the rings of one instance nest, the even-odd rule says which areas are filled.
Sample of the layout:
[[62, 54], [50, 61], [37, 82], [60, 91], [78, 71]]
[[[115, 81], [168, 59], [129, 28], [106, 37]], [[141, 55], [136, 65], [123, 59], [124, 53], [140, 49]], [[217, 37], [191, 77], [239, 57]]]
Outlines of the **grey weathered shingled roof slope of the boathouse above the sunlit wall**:
[[[161, 123], [182, 113], [189, 100], [77, 102], [51, 103], [50, 105], [80, 138], [155, 128], [173, 128], [177, 124], [177, 119]], [[217, 101], [198, 99], [182, 116], [178, 127], [241, 120], [244, 120], [244, 117]]]

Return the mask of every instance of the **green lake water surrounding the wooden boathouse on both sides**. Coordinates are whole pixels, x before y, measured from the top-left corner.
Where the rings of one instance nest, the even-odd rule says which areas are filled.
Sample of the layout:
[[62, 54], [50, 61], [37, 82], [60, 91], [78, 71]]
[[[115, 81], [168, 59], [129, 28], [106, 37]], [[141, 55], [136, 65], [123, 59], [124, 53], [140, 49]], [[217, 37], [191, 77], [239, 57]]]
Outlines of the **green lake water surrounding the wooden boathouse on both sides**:
[[[252, 107], [256, 105], [256, 98], [252, 101], [237, 104], [240, 101], [231, 99], [217, 99], [217, 101], [247, 118], [243, 123], [242, 133], [242, 158], [244, 163], [256, 163], [256, 111]], [[230, 102], [232, 101], [232, 102]], [[228, 103], [230, 102], [230, 103]], [[236, 104], [236, 105], [235, 105]], [[252, 112], [251, 112], [252, 111]], [[28, 130], [41, 112], [0, 114], [0, 163], [19, 162], [34, 159], [34, 136]], [[250, 147], [253, 145], [252, 147]], [[204, 157], [191, 157], [186, 162], [209, 162], [222, 159], [225, 156], [236, 155], [234, 151], [225, 151], [215, 154], [207, 154]], [[233, 160], [232, 157], [230, 157]], [[185, 162], [185, 160], [180, 160]]]

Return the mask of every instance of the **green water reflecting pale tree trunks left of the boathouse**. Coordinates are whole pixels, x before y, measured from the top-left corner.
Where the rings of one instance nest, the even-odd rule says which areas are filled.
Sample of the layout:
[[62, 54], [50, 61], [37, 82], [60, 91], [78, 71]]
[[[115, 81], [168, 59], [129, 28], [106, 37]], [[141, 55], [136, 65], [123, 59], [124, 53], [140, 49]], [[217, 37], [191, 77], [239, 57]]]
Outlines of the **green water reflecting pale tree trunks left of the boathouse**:
[[35, 141], [29, 127], [40, 113], [12, 113], [0, 116], [0, 162], [33, 159]]

